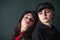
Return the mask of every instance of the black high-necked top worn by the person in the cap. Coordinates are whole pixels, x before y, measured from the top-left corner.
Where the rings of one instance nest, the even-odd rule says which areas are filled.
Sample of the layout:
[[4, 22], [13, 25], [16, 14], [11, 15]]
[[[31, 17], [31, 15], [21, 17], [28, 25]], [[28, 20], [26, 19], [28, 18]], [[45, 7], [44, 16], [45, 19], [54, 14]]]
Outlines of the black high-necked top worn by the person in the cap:
[[38, 22], [32, 34], [32, 40], [59, 40], [58, 31], [54, 26], [51, 28]]

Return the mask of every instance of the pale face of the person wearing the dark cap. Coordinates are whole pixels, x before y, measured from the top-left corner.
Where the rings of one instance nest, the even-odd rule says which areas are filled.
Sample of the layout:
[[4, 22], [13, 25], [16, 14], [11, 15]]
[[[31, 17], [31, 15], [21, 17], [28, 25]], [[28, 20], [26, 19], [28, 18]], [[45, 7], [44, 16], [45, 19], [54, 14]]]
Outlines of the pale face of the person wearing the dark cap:
[[38, 12], [38, 17], [39, 17], [39, 20], [42, 22], [42, 23], [48, 23], [48, 22], [51, 22], [52, 19], [53, 19], [53, 10], [52, 9], [44, 9], [42, 10], [41, 12]]

